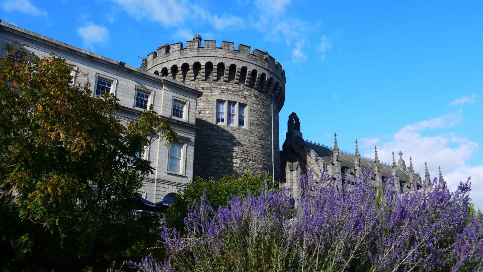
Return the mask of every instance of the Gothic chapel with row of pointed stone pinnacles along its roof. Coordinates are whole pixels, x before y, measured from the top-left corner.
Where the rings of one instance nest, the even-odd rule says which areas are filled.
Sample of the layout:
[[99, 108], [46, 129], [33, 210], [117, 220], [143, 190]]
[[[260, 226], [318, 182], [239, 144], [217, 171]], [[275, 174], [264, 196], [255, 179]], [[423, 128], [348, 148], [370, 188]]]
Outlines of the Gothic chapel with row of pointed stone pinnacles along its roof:
[[[400, 151], [398, 161], [396, 162], [393, 152], [392, 163], [387, 164], [379, 160], [377, 147], [374, 150], [374, 159], [362, 157], [357, 140], [354, 153], [341, 151], [337, 144], [337, 134], [334, 134], [333, 147], [304, 140], [300, 120], [295, 113], [288, 117], [286, 138], [280, 154], [283, 169], [282, 185], [290, 188], [294, 197], [299, 195], [299, 180], [302, 174], [307, 173], [307, 169], [312, 171], [314, 179], [317, 180], [321, 178], [321, 172], [329, 173], [334, 182], [339, 183], [340, 188], [350, 188], [354, 177], [360, 176], [362, 171], [367, 168], [374, 173], [371, 177], [374, 187], [382, 186], [383, 182], [391, 178], [394, 179], [394, 184], [399, 186], [400, 193], [420, 190], [425, 185], [432, 184], [428, 167], [426, 167], [423, 179], [419, 173], [415, 172], [411, 157], [410, 164], [407, 166], [403, 153]], [[440, 181], [443, 181], [441, 169]]]

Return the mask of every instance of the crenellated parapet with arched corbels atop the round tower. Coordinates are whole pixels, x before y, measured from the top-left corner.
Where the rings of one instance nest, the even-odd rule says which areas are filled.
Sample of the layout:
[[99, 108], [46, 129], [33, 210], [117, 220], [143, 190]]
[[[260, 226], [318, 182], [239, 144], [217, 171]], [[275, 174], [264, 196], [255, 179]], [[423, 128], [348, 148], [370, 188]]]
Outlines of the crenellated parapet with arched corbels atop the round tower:
[[250, 46], [205, 40], [196, 35], [192, 41], [163, 44], [146, 57], [146, 71], [181, 82], [213, 81], [244, 85], [273, 97], [278, 111], [285, 102], [285, 71], [267, 51]]

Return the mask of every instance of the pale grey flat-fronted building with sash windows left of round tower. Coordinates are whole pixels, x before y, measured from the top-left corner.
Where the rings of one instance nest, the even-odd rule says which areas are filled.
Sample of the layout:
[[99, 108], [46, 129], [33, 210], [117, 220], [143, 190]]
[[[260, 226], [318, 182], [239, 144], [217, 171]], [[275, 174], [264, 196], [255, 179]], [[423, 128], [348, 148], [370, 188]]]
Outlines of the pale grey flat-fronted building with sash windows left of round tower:
[[8, 53], [5, 44], [10, 41], [25, 44], [24, 50], [39, 57], [54, 53], [66, 59], [74, 65], [72, 75], [87, 73], [86, 77], [75, 77], [73, 84], [84, 84], [89, 80], [94, 96], [114, 94], [121, 105], [117, 112], [120, 122], [136, 120], [138, 114], [150, 104], [161, 118], [168, 120], [178, 134], [179, 143], [173, 149], [168, 149], [165, 142], [156, 137], [146, 147], [143, 156], [152, 162], [155, 170], [143, 181], [140, 192], [144, 198], [160, 201], [165, 195], [186, 187], [193, 179], [196, 107], [197, 99], [201, 96], [196, 87], [0, 22], [2, 55]]

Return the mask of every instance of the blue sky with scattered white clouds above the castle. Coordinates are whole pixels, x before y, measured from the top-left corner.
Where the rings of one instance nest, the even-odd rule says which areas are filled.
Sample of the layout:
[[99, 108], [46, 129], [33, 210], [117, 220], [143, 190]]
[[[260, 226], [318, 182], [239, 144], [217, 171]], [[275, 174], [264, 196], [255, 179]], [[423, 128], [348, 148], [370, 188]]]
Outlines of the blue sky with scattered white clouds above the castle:
[[133, 66], [195, 34], [267, 50], [287, 77], [282, 141], [294, 111], [305, 139], [402, 151], [452, 188], [472, 176], [483, 208], [481, 18], [477, 1], [0, 1], [6, 22]]

